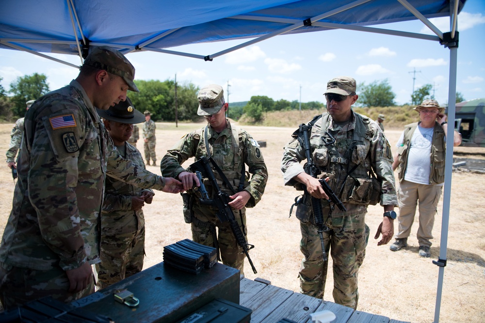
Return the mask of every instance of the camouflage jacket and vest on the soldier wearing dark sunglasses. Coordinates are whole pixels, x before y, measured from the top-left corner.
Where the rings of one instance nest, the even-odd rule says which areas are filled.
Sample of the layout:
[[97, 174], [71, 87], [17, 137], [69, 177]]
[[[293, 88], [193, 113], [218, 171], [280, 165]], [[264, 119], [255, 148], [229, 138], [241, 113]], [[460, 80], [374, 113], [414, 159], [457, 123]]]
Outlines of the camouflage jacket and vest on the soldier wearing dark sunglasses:
[[[392, 153], [384, 133], [371, 119], [352, 111], [348, 124], [338, 125], [327, 113], [312, 127], [310, 135], [311, 155], [320, 177], [328, 175], [328, 185], [344, 202], [347, 212], [335, 208], [332, 215], [356, 215], [366, 212], [369, 194], [372, 193], [370, 172], [375, 173], [382, 183], [381, 205], [397, 205], [397, 195], [392, 170]], [[331, 134], [335, 141], [326, 134]], [[295, 132], [296, 133], [296, 132]], [[301, 161], [307, 161], [304, 147], [294, 137], [284, 148], [281, 170], [285, 185], [300, 185], [293, 178], [304, 168]], [[355, 166], [355, 167], [354, 167]], [[352, 176], [347, 176], [351, 170]], [[359, 195], [365, 190], [365, 194]], [[322, 200], [323, 206], [328, 205]], [[325, 209], [328, 212], [328, 208]]]

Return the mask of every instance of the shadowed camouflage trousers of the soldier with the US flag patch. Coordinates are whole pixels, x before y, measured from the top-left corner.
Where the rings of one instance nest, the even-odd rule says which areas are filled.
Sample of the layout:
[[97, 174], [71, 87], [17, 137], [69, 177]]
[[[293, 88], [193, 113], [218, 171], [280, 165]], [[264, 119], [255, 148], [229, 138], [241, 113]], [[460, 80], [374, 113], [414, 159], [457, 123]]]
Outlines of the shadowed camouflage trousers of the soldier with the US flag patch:
[[61, 267], [50, 270], [5, 267], [0, 266], [0, 302], [4, 310], [47, 296], [68, 303], [94, 292], [94, 277], [81, 292], [68, 292], [69, 279]]

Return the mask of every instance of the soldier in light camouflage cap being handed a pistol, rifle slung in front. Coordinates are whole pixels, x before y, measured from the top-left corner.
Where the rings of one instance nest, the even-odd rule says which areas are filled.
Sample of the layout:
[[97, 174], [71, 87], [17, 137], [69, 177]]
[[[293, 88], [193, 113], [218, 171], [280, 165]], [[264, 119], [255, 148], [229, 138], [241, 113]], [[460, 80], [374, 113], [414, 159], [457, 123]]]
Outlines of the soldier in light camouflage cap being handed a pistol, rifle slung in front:
[[[259, 145], [251, 136], [241, 128], [233, 126], [226, 119], [225, 111], [228, 104], [224, 100], [222, 87], [216, 84], [209, 85], [199, 91], [198, 115], [207, 119], [208, 125], [182, 137], [170, 149], [160, 163], [163, 176], [178, 178], [184, 189], [191, 189], [199, 181], [194, 173], [187, 172], [180, 165], [191, 157], [199, 160], [201, 156], [211, 155], [224, 175], [233, 185], [236, 194], [223, 185], [222, 178], [216, 170], [214, 175], [218, 184], [232, 199], [229, 202], [241, 231], [247, 234], [246, 207], [255, 206], [264, 192], [268, 180], [268, 170], [259, 149]], [[246, 175], [245, 165], [252, 174], [251, 181]], [[243, 187], [239, 188], [241, 180]], [[208, 180], [204, 181], [212, 199], [215, 192]], [[242, 248], [237, 245], [229, 223], [221, 223], [216, 216], [217, 209], [208, 205], [201, 205], [195, 194], [184, 197], [184, 218], [191, 223], [192, 239], [206, 246], [218, 247], [222, 262], [230, 267], [237, 268], [244, 274], [243, 265], [245, 255]], [[219, 229], [218, 236], [216, 229]]]

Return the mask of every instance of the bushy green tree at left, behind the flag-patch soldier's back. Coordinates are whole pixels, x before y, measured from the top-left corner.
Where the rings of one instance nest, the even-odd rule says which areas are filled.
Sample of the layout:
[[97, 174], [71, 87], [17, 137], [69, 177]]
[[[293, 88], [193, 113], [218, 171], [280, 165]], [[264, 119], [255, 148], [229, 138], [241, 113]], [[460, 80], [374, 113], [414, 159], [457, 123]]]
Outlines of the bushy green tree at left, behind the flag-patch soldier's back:
[[15, 116], [25, 115], [25, 103], [29, 100], [36, 100], [49, 92], [49, 84], [44, 74], [34, 73], [24, 77], [17, 77], [16, 81], [10, 83], [10, 93], [13, 103], [12, 112]]

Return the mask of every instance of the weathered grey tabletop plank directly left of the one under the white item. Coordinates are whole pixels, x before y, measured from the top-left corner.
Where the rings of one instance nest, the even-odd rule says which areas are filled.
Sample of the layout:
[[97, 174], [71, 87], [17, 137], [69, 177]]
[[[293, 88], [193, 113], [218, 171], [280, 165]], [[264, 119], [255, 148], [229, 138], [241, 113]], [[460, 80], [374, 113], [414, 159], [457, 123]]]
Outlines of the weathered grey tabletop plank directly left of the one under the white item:
[[310, 313], [313, 313], [320, 304], [322, 304], [321, 299], [295, 292], [261, 323], [274, 323], [285, 318], [305, 323]]

